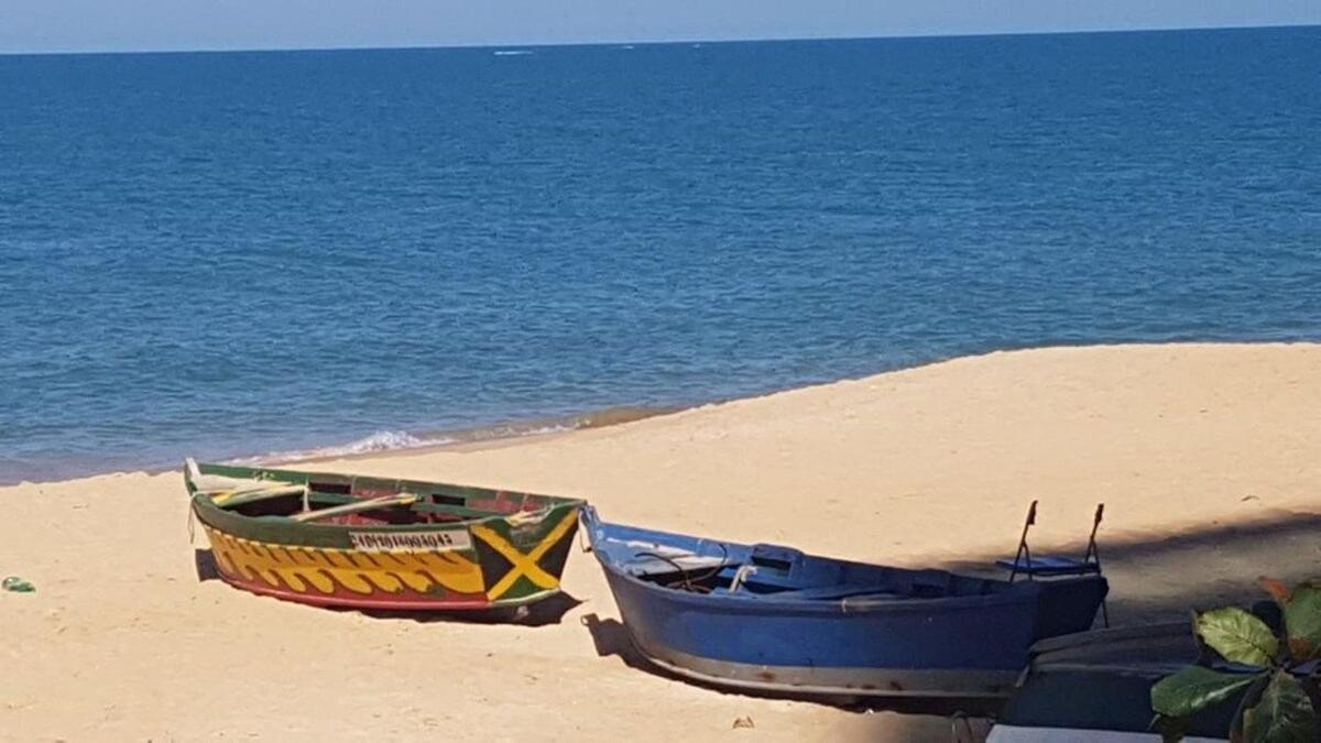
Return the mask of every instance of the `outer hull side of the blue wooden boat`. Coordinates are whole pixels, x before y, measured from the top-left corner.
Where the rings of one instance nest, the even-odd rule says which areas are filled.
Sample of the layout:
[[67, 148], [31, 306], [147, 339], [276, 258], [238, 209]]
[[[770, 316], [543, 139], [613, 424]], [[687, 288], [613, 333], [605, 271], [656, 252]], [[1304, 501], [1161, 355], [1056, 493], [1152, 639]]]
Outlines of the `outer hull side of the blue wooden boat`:
[[675, 590], [597, 557], [651, 662], [704, 684], [795, 695], [1005, 697], [1032, 644], [1090, 627], [1106, 594], [1092, 575], [991, 595], [777, 600]]

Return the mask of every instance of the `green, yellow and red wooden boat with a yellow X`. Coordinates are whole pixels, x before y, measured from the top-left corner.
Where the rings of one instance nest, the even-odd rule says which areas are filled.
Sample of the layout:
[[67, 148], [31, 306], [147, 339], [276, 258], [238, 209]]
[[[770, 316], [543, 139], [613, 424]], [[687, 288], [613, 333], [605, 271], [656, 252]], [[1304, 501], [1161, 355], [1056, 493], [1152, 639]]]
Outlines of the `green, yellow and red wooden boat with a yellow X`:
[[546, 599], [560, 590], [583, 505], [193, 460], [184, 479], [222, 579], [329, 607], [489, 609]]

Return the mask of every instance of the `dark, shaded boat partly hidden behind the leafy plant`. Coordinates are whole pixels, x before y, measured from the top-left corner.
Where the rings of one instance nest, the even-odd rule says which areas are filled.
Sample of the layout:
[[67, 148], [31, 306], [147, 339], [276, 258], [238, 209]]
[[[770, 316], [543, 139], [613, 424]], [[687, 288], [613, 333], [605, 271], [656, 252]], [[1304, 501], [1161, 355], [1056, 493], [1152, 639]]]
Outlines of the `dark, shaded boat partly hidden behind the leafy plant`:
[[[1198, 658], [1188, 621], [1042, 640], [988, 743], [1160, 743], [1151, 687]], [[1193, 715], [1189, 743], [1227, 740], [1240, 690]]]

